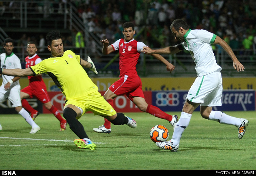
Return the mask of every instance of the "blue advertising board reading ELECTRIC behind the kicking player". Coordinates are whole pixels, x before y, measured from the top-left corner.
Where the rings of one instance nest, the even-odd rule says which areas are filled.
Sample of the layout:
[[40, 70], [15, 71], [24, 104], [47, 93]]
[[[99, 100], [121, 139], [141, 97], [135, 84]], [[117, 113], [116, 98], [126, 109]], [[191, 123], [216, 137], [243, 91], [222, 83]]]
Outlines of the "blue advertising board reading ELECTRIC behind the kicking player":
[[[186, 101], [187, 90], [152, 91], [152, 105], [163, 111], [181, 111]], [[223, 90], [219, 111], [255, 110], [255, 90]], [[200, 108], [196, 108], [196, 111]]]

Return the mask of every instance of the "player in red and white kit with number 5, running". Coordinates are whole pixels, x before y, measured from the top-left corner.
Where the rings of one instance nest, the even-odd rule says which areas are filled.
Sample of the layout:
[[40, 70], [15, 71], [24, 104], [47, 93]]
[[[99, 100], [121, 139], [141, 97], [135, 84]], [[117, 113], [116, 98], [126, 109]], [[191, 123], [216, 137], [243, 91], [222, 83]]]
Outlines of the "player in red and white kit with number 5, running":
[[[113, 107], [113, 99], [119, 95], [127, 95], [127, 97], [136, 105], [141, 111], [147, 112], [158, 118], [168, 120], [172, 126], [177, 123], [178, 117], [176, 115], [169, 115], [163, 112], [156, 106], [149, 105], [144, 98], [142, 91], [142, 84], [140, 77], [136, 71], [136, 64], [140, 57], [143, 46], [146, 46], [143, 42], [138, 42], [133, 38], [135, 34], [134, 25], [132, 22], [126, 22], [123, 25], [124, 39], [119, 39], [115, 43], [109, 45], [108, 39], [103, 39], [100, 42], [103, 43], [102, 53], [107, 55], [114, 51], [119, 50], [119, 69], [120, 79], [114, 82], [104, 94], [105, 100]], [[160, 60], [166, 65], [168, 71], [172, 72], [175, 67], [164, 59], [159, 54], [151, 54], [157, 60]], [[110, 133], [110, 122], [105, 119], [105, 123], [98, 128], [93, 128], [95, 132]]]

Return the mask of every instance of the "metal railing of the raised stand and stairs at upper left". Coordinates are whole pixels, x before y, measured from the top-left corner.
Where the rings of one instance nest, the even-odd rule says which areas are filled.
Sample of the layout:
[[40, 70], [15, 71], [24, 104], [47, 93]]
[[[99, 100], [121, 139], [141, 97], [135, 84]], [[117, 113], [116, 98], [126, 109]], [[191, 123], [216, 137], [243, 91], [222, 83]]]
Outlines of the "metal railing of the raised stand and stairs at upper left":
[[[58, 29], [61, 32], [71, 32], [73, 29], [82, 30], [84, 38], [92, 38], [96, 46], [100, 46], [99, 39], [88, 31], [87, 24], [78, 17], [77, 9], [71, 3], [55, 3], [49, 0], [3, 0], [1, 2], [3, 6], [0, 7], [0, 27], [6, 31], [45, 32]], [[90, 46], [88, 40], [85, 40], [85, 45]], [[86, 54], [87, 49], [83, 52]], [[98, 54], [101, 53], [98, 52]]]

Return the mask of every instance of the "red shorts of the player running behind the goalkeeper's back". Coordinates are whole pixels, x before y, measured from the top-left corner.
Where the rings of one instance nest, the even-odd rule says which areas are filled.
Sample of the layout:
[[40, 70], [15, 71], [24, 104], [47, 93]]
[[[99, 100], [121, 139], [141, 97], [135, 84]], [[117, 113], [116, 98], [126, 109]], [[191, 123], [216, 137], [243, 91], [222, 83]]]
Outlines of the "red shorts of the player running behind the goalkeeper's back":
[[29, 95], [29, 98], [33, 98], [33, 96], [36, 97], [36, 99], [38, 99], [42, 103], [47, 103], [51, 101], [45, 88], [34, 89], [31, 86], [27, 86], [20, 91], [27, 93]]

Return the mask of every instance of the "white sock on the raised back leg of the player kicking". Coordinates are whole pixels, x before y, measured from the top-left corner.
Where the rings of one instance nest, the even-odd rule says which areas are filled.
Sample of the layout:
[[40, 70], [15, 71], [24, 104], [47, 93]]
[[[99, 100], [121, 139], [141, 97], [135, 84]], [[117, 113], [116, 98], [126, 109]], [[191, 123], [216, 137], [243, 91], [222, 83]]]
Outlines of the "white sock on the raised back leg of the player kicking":
[[221, 124], [235, 125], [236, 127], [241, 124], [240, 118], [228, 116], [220, 111], [212, 111], [209, 115], [209, 120], [214, 120]]

